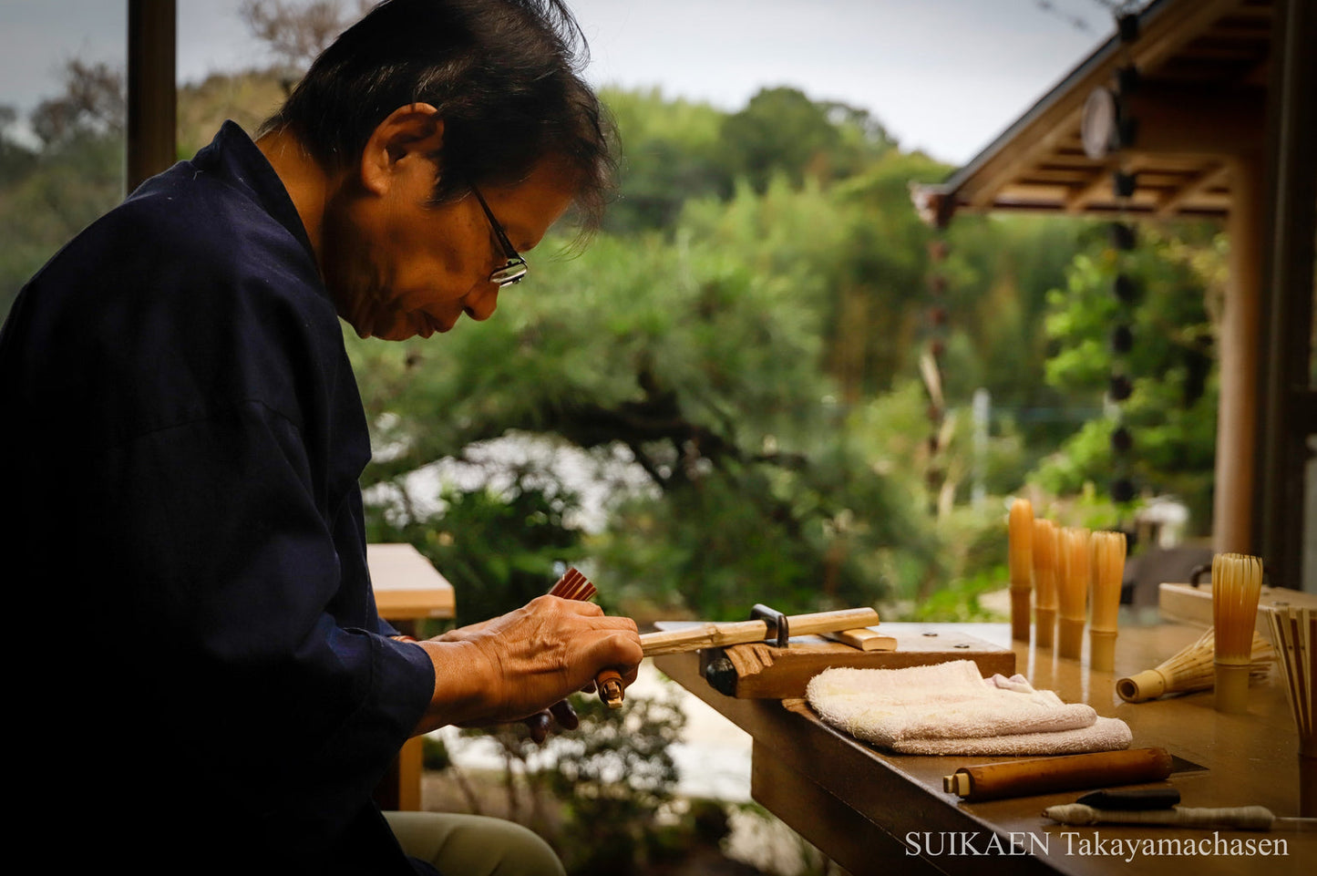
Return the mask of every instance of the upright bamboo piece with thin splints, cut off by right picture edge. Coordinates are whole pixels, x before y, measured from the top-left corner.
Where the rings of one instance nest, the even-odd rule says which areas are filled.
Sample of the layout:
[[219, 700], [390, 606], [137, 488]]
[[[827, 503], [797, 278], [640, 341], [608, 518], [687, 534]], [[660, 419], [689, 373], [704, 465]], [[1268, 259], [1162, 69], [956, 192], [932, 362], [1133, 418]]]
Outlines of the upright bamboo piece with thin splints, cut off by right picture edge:
[[1317, 684], [1317, 611], [1275, 606], [1267, 614], [1271, 638], [1280, 652], [1285, 697], [1299, 728], [1299, 814], [1317, 815], [1317, 725], [1313, 685]]

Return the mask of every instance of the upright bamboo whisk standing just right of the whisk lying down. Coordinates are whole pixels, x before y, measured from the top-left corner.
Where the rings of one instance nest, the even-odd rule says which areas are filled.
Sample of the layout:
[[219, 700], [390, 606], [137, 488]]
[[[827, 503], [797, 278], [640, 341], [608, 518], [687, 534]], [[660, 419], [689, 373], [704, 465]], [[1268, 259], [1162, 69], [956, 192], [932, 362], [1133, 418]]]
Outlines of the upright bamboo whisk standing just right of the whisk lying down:
[[1260, 594], [1262, 560], [1243, 553], [1218, 553], [1212, 559], [1217, 711], [1249, 711], [1249, 664]]

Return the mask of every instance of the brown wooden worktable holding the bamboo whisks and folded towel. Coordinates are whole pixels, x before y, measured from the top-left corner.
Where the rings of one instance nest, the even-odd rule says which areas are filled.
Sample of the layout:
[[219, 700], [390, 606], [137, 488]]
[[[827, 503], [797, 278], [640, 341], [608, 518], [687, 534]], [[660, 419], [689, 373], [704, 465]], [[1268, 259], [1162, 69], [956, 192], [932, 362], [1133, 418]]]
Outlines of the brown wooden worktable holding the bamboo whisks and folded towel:
[[[880, 628], [897, 627], [882, 624]], [[969, 630], [1014, 647], [1018, 671], [1065, 702], [1088, 702], [1121, 718], [1134, 747], [1156, 746], [1205, 769], [1175, 772], [1169, 784], [1185, 806], [1267, 806], [1299, 814], [1297, 731], [1277, 681], [1250, 690], [1250, 714], [1225, 715], [1210, 692], [1147, 703], [1115, 696], [1117, 678], [1155, 667], [1201, 630], [1181, 624], [1122, 627], [1115, 673], [1089, 672], [1050, 651], [1010, 643], [1008, 624], [901, 624]], [[1185, 831], [1104, 825], [1065, 827], [1042, 817], [1046, 806], [1073, 802], [1083, 792], [967, 804], [943, 792], [942, 777], [959, 767], [1004, 757], [889, 755], [823, 725], [802, 699], [735, 699], [699, 674], [699, 655], [656, 657], [660, 671], [711, 705], [753, 739], [751, 793], [855, 876], [867, 873], [1308, 873], [1317, 865], [1317, 833]], [[1227, 854], [1175, 855], [1147, 850], [1119, 854], [1112, 840], [1225, 840]], [[1284, 840], [1285, 856], [1231, 855], [1230, 843]], [[1100, 843], [1100, 844], [1098, 844]], [[996, 854], [996, 850], [1015, 854]], [[1255, 846], [1255, 850], [1258, 847]], [[1272, 847], [1272, 850], [1277, 850]], [[1241, 848], [1239, 851], [1246, 851]], [[1087, 852], [1087, 854], [1085, 854]], [[1129, 862], [1125, 859], [1130, 858]]]

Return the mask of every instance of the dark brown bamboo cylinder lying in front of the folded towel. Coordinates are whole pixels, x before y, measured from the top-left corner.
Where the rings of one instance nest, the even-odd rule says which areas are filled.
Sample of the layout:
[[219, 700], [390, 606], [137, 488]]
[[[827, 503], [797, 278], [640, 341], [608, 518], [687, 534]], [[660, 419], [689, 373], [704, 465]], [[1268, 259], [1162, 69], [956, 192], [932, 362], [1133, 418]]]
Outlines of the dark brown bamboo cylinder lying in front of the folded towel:
[[1127, 748], [961, 767], [942, 777], [942, 788], [976, 802], [1080, 788], [1139, 785], [1162, 781], [1169, 775], [1171, 755], [1164, 748]]

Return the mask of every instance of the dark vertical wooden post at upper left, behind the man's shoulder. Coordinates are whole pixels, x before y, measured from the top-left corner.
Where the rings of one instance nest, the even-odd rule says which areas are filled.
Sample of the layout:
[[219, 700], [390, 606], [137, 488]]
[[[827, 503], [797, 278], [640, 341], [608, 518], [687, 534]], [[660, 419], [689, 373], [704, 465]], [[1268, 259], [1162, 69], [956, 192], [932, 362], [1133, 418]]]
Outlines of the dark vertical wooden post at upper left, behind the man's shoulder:
[[128, 0], [128, 191], [176, 158], [175, 0]]

